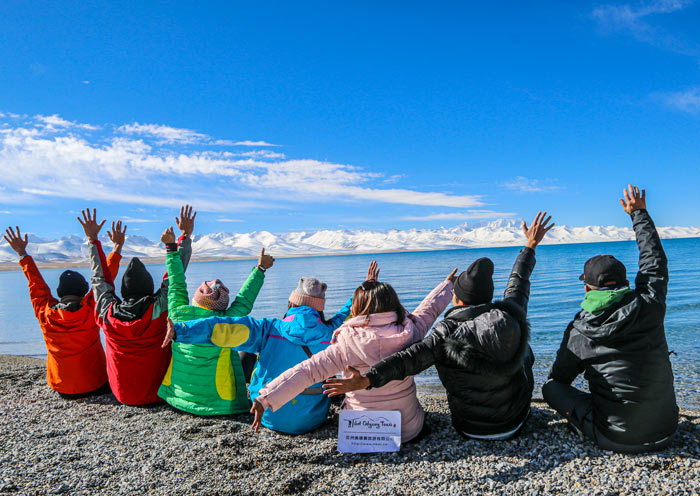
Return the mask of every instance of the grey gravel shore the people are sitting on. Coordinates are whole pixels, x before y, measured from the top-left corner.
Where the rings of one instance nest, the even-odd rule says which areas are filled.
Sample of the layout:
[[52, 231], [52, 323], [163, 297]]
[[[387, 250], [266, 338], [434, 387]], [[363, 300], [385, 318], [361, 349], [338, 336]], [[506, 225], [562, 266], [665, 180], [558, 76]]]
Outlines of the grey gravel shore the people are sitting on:
[[700, 412], [673, 445], [624, 456], [575, 437], [540, 401], [514, 441], [459, 437], [439, 391], [419, 394], [431, 436], [399, 453], [336, 450], [316, 432], [255, 435], [251, 416], [195, 417], [111, 395], [67, 401], [45, 362], [0, 355], [0, 494], [699, 494]]

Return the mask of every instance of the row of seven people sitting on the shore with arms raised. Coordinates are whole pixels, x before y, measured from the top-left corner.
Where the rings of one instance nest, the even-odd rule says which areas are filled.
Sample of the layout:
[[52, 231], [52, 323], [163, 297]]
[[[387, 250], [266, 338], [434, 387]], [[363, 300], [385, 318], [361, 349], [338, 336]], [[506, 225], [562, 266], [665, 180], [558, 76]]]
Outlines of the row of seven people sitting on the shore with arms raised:
[[[623, 196], [640, 250], [635, 288], [615, 257], [586, 262], [582, 309], [564, 332], [542, 394], [579, 435], [606, 450], [637, 453], [671, 442], [678, 407], [664, 331], [666, 256], [644, 190], [630, 185]], [[94, 209], [82, 212], [92, 289], [67, 270], [58, 298], [27, 255], [27, 235], [7, 229], [29, 280], [52, 389], [66, 398], [111, 391], [127, 405], [164, 400], [197, 415], [250, 411], [256, 432], [262, 425], [290, 434], [318, 428], [331, 397], [342, 395], [343, 408], [400, 411], [402, 443], [411, 443], [430, 434], [413, 376], [434, 365], [460, 435], [505, 440], [523, 430], [534, 389], [529, 279], [535, 250], [553, 227], [546, 213], [530, 226], [523, 222], [526, 246], [502, 300], [493, 300], [493, 263], [480, 258], [459, 275], [453, 270], [408, 312], [372, 262], [332, 317], [324, 313], [326, 284], [302, 277], [283, 317], [262, 319], [248, 314], [275, 261], [264, 249], [233, 302], [218, 279], [202, 282], [190, 302], [185, 271], [195, 217], [185, 206], [176, 218], [179, 238], [172, 227], [163, 233], [167, 273], [160, 287], [134, 257], [121, 297], [114, 284], [125, 242], [121, 222], [107, 233], [114, 247], [105, 257], [98, 239], [105, 221], [97, 222]], [[589, 392], [571, 385], [581, 373]]]

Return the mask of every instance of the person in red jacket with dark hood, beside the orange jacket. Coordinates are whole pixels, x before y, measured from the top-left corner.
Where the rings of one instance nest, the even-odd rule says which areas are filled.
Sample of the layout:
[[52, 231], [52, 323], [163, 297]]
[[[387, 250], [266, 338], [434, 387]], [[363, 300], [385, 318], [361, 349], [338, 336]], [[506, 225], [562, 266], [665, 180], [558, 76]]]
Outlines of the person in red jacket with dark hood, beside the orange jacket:
[[[143, 262], [134, 257], [124, 270], [121, 299], [108, 269], [97, 235], [104, 224], [97, 223], [93, 209], [83, 211], [78, 221], [90, 243], [92, 291], [95, 296], [95, 321], [105, 335], [107, 376], [112, 393], [126, 405], [159, 403], [158, 388], [170, 364], [170, 346], [161, 347], [167, 331], [168, 279], [154, 291], [153, 278]], [[186, 269], [192, 254], [190, 235], [194, 218], [190, 206], [175, 218], [182, 231], [180, 258]]]

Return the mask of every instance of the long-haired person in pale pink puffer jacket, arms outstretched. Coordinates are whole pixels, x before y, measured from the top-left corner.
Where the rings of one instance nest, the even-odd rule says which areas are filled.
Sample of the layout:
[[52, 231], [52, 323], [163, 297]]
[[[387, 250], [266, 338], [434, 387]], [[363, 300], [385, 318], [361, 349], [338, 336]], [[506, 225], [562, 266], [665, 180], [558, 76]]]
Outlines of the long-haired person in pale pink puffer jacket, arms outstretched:
[[[252, 429], [260, 430], [267, 408], [276, 411], [312, 384], [341, 372], [343, 377], [349, 377], [348, 367], [364, 372], [379, 360], [422, 340], [450, 303], [456, 272], [457, 269], [453, 270], [409, 314], [394, 289], [377, 280], [379, 269], [377, 263], [372, 262], [368, 280], [353, 295], [353, 317], [335, 331], [333, 344], [328, 348], [287, 370], [260, 390], [251, 409], [255, 415]], [[403, 443], [423, 438], [430, 432], [424, 425], [425, 412], [416, 397], [413, 377], [392, 381], [377, 389], [348, 393], [343, 408], [400, 411]]]

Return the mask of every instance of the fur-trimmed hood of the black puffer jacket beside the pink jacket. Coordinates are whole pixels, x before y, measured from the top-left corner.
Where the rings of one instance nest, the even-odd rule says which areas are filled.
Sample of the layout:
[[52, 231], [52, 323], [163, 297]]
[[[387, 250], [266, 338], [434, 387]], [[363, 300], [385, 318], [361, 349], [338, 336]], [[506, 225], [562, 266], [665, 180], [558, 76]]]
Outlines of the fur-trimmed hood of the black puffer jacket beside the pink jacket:
[[445, 352], [470, 370], [511, 375], [522, 367], [530, 325], [512, 303], [455, 307], [440, 324], [447, 328]]

